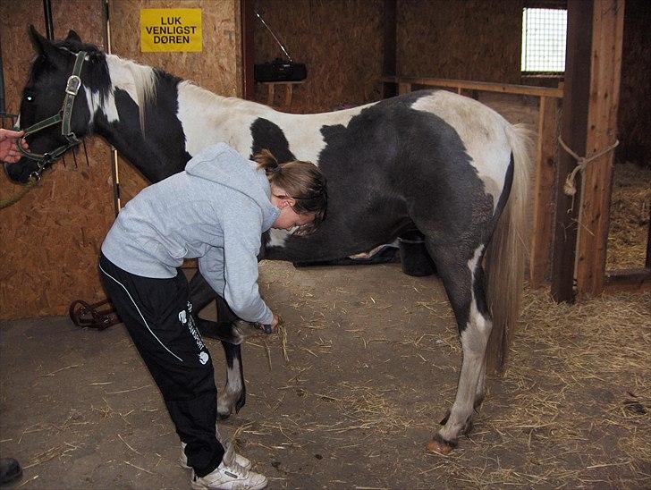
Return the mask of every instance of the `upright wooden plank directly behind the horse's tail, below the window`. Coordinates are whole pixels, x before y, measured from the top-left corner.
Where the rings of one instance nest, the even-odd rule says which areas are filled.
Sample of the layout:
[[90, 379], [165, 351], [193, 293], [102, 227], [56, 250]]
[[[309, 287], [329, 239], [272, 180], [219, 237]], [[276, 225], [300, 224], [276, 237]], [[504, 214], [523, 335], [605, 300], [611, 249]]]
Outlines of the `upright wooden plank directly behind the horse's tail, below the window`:
[[538, 288], [545, 283], [550, 267], [554, 231], [554, 185], [556, 180], [556, 119], [559, 99], [540, 97], [536, 182], [534, 192], [529, 283]]

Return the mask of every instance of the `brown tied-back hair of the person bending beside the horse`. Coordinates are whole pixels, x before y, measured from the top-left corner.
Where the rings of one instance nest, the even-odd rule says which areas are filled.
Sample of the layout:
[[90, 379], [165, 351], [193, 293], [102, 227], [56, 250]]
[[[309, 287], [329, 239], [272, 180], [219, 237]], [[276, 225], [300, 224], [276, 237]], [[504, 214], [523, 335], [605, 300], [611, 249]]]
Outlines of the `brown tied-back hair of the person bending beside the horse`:
[[300, 160], [279, 164], [274, 154], [266, 148], [253, 156], [253, 160], [258, 162], [258, 168], [265, 171], [269, 183], [284, 190], [287, 197], [296, 201], [292, 206], [294, 211], [299, 215], [314, 215], [314, 221], [301, 226], [295, 234], [308, 235], [316, 232], [325, 219], [328, 200], [325, 175], [317, 165]]

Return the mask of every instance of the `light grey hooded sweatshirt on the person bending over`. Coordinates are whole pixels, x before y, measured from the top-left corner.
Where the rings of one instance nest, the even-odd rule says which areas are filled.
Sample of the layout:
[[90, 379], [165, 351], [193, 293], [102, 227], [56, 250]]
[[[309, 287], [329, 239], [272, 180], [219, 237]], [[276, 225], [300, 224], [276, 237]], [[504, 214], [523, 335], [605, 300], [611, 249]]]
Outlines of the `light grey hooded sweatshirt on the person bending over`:
[[199, 258], [199, 271], [238, 317], [270, 324], [257, 259], [262, 233], [280, 214], [270, 195], [265, 172], [219, 143], [131, 199], [102, 252], [115, 266], [153, 278], [174, 277], [184, 258]]

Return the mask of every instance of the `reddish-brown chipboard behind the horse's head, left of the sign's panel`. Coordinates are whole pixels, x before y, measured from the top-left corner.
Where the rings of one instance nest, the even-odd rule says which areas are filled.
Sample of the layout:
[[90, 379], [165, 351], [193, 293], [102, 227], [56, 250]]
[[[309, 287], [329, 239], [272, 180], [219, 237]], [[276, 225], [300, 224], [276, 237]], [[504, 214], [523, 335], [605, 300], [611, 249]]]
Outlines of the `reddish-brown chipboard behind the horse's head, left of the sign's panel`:
[[[102, 3], [89, 0], [70, 8], [53, 0], [55, 38], [76, 30], [81, 38], [100, 44]], [[45, 34], [42, 0], [0, 2], [0, 44], [7, 110], [18, 112], [21, 90], [34, 52], [28, 26]], [[61, 95], [63, 100], [63, 94]], [[72, 157], [55, 164], [43, 182], [13, 207], [0, 210], [0, 318], [63, 314], [72, 300], [103, 296], [97, 278], [97, 254], [113, 219], [108, 146], [86, 140], [75, 168]], [[19, 188], [0, 176], [0, 195]]]

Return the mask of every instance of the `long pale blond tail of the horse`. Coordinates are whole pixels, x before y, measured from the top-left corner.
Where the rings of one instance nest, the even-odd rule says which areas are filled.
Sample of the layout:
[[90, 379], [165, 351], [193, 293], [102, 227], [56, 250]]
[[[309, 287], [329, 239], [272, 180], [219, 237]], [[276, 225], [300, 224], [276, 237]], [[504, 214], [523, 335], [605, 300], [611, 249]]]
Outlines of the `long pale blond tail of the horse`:
[[488, 342], [489, 370], [502, 371], [520, 315], [525, 260], [527, 209], [532, 166], [533, 132], [522, 124], [506, 127], [511, 146], [511, 192], [486, 249], [486, 296], [493, 316]]

